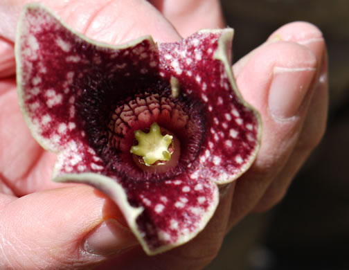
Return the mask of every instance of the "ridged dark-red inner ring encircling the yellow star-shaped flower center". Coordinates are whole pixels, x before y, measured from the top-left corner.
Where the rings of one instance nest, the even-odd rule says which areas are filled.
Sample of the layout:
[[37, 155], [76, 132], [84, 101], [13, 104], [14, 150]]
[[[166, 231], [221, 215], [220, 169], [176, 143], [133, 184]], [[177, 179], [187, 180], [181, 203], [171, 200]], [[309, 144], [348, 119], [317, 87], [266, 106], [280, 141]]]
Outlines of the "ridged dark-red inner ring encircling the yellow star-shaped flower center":
[[[188, 165], [199, 154], [204, 137], [202, 116], [198, 113], [197, 109], [180, 99], [174, 100], [169, 91], [162, 94], [138, 93], [133, 98], [120, 102], [109, 116], [106, 132], [107, 147], [111, 156], [114, 156], [114, 159], [109, 159], [114, 161], [111, 168], [118, 173], [127, 174], [127, 179], [135, 177], [143, 180], [168, 179], [188, 170]], [[200, 120], [195, 116], [200, 117]], [[177, 167], [156, 175], [138, 168], [129, 153], [134, 145], [134, 131], [148, 129], [154, 122], [175, 134], [181, 143], [181, 156]], [[123, 161], [122, 164], [120, 160]]]

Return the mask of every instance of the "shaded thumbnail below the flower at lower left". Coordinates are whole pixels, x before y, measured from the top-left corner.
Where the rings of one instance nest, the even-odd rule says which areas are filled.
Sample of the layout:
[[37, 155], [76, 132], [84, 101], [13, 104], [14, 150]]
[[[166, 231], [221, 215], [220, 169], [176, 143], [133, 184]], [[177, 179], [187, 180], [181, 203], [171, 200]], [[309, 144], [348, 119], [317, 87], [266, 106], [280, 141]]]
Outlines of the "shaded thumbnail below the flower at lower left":
[[82, 248], [93, 255], [111, 255], [138, 244], [136, 238], [116, 220], [109, 219], [87, 235]]

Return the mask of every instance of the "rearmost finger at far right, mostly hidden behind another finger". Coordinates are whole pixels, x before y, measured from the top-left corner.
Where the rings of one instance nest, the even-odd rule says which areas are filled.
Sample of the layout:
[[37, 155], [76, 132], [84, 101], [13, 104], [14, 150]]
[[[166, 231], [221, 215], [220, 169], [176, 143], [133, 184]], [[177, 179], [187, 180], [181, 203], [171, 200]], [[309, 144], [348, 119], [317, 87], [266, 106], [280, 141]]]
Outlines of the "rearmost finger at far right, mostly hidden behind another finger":
[[[316, 56], [316, 59], [318, 59], [318, 62], [321, 63], [318, 81], [315, 86], [314, 95], [310, 101], [310, 107], [307, 110], [307, 116], [303, 123], [301, 135], [294, 147], [294, 151], [289, 157], [289, 161], [287, 161], [285, 168], [278, 174], [275, 181], [271, 183], [265, 195], [263, 195], [262, 199], [260, 199], [256, 205], [254, 210], [258, 212], [271, 208], [277, 204], [278, 201], [283, 199], [296, 172], [301, 168], [301, 165], [303, 165], [307, 156], [310, 155], [310, 152], [320, 143], [325, 133], [328, 111], [328, 61], [325, 52], [325, 43], [320, 30], [315, 26], [305, 23], [298, 24], [298, 26], [301, 26], [307, 33], [312, 33], [310, 39], [298, 42], [310, 48]], [[289, 29], [290, 27], [292, 27], [292, 25], [281, 28], [281, 35], [287, 37], [285, 34], [291, 30]], [[292, 33], [288, 35], [288, 37], [290, 36], [292, 37]]]

